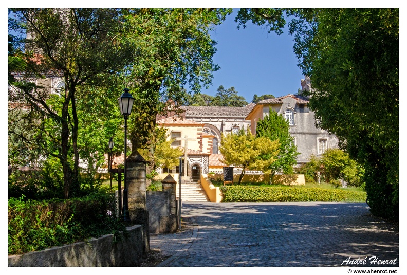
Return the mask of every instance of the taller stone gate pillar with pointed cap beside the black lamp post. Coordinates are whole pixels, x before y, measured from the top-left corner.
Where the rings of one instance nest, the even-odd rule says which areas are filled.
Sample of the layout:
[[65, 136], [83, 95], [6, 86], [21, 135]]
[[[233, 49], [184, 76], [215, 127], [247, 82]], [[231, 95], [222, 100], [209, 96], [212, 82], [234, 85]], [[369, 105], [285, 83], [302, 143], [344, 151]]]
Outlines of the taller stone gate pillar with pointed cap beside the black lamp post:
[[133, 224], [144, 227], [144, 253], [150, 250], [149, 237], [149, 211], [145, 206], [146, 194], [146, 161], [134, 151], [126, 160], [127, 164], [127, 190], [128, 212]]

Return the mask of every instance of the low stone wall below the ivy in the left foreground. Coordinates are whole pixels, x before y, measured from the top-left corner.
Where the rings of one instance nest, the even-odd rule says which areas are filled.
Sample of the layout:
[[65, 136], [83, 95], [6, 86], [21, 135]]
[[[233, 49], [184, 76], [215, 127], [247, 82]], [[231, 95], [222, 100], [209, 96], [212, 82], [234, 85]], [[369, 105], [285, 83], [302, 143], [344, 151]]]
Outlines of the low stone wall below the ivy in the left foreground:
[[86, 242], [8, 256], [9, 267], [109, 267], [134, 266], [143, 255], [141, 225], [127, 227], [119, 240], [105, 235]]

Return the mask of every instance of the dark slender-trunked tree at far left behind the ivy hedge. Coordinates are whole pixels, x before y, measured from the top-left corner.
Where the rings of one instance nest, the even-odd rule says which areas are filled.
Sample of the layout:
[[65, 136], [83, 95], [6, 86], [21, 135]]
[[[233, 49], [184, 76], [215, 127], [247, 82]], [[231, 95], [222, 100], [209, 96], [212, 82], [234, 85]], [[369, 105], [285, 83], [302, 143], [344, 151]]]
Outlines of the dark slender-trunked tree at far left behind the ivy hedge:
[[[65, 197], [78, 195], [77, 90], [81, 85], [95, 85], [100, 76], [114, 74], [133, 59], [133, 52], [119, 40], [123, 32], [121, 14], [117, 9], [15, 9], [13, 12], [18, 24], [12, 28], [27, 31], [21, 52], [35, 53], [33, 58], [25, 59], [27, 68], [19, 81], [36, 79], [39, 84], [15, 86], [19, 89], [11, 93], [24, 98], [36, 112], [55, 123], [53, 133], [42, 129], [57, 149], [48, 150], [48, 154], [61, 162]], [[57, 89], [50, 80], [59, 78], [64, 87]], [[59, 98], [51, 99], [51, 91]]]

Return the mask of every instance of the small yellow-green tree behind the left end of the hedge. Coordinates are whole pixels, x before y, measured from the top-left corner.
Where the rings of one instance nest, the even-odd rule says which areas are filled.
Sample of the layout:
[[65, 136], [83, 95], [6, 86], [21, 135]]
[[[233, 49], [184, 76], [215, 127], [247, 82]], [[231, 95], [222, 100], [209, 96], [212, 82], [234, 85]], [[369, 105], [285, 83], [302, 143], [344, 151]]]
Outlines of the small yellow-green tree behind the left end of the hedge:
[[278, 140], [255, 137], [250, 131], [241, 129], [237, 134], [222, 134], [219, 150], [226, 164], [242, 168], [240, 184], [246, 169], [268, 173], [268, 168], [279, 154], [279, 146]]

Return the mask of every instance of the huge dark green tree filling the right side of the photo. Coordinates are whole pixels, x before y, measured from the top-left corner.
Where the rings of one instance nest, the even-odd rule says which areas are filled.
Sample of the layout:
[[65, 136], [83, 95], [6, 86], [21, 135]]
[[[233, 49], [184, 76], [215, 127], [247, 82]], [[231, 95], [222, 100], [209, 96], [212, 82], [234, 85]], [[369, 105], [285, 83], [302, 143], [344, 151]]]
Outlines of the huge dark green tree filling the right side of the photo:
[[245, 9], [236, 20], [274, 31], [284, 11], [318, 126], [364, 166], [371, 212], [398, 218], [399, 9]]

